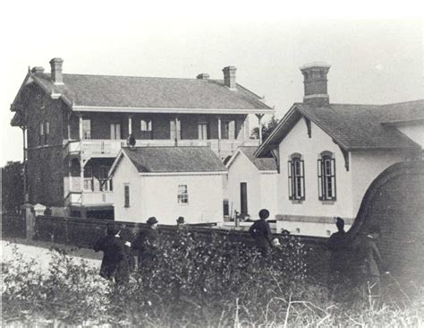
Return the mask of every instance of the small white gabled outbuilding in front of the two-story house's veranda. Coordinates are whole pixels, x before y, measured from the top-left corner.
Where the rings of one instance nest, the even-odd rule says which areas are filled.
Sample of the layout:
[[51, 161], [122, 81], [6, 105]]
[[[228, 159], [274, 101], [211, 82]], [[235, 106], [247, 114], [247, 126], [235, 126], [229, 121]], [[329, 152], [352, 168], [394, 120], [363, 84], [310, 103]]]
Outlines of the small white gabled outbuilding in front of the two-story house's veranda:
[[123, 148], [109, 175], [114, 220], [160, 224], [221, 222], [226, 168], [208, 147]]

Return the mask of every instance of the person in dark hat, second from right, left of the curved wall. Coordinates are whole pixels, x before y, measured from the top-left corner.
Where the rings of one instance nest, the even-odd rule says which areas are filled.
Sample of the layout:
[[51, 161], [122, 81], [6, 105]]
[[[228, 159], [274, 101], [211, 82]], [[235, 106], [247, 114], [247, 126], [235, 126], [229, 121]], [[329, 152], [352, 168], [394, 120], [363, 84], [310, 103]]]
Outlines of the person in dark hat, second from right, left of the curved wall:
[[330, 249], [330, 263], [328, 284], [332, 293], [339, 285], [347, 283], [348, 263], [351, 240], [344, 231], [344, 220], [335, 217], [337, 232], [328, 238], [328, 248]]

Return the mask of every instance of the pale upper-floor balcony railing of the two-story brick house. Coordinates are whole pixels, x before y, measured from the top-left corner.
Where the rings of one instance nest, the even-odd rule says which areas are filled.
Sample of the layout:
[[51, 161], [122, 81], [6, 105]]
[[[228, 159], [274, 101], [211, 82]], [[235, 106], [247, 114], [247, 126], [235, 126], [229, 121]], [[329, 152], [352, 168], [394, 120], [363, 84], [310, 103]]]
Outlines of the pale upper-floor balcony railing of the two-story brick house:
[[[210, 147], [217, 156], [225, 158], [229, 156], [239, 146], [259, 146], [259, 140], [249, 139], [242, 140], [228, 140], [228, 139], [182, 139], [178, 140], [178, 146], [192, 146], [192, 147]], [[71, 141], [67, 144], [67, 153], [73, 156], [80, 156], [83, 158], [114, 158], [126, 146], [126, 140], [82, 140]], [[166, 147], [175, 146], [175, 141], [170, 139], [152, 139], [152, 140], [137, 140], [136, 146], [138, 147]]]

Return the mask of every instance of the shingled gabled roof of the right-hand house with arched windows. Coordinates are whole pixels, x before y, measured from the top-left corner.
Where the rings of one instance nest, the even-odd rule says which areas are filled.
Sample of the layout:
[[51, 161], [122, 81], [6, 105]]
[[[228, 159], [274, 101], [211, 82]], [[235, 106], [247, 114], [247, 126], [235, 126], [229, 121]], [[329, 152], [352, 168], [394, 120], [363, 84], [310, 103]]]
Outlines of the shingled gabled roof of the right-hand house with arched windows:
[[[424, 118], [424, 100], [387, 105], [330, 104], [318, 108], [295, 103], [275, 131], [256, 151], [265, 156], [276, 148], [302, 118], [318, 125], [344, 150], [417, 149], [420, 146], [386, 123], [395, 120], [420, 121]], [[313, 131], [312, 131], [313, 135]]]

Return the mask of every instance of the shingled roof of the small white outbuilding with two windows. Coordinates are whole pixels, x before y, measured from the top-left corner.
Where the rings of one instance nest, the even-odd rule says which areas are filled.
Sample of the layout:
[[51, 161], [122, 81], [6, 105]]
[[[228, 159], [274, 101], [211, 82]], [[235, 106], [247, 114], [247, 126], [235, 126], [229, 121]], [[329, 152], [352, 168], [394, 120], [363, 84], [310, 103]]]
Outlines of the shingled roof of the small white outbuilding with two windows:
[[114, 161], [126, 156], [139, 173], [225, 173], [226, 168], [209, 147], [124, 147]]

